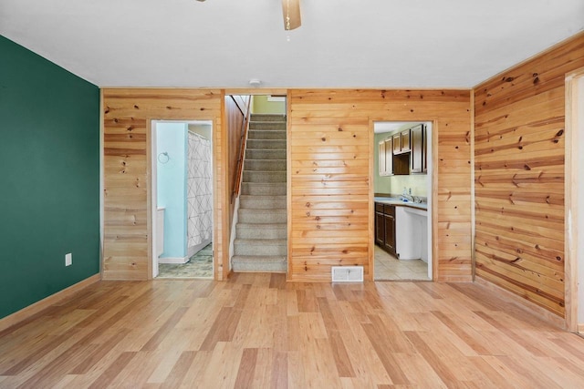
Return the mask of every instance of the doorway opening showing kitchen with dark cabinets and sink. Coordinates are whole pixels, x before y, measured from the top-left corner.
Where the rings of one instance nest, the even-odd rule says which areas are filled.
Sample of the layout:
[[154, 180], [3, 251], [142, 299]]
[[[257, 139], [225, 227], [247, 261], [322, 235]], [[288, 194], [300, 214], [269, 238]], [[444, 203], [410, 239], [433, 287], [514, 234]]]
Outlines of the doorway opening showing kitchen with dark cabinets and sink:
[[375, 121], [375, 281], [433, 279], [432, 122]]

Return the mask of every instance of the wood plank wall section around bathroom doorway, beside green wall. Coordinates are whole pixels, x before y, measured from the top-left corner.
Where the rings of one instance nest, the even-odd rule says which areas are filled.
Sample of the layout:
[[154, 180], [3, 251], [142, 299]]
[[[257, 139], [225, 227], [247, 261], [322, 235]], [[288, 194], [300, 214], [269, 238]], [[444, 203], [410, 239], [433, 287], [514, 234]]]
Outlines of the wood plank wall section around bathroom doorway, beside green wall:
[[[211, 89], [103, 89], [104, 280], [151, 278], [151, 120], [212, 120], [214, 123], [215, 278], [226, 276], [228, 248], [223, 209], [226, 163], [223, 92]], [[227, 200], [228, 202], [228, 200]]]

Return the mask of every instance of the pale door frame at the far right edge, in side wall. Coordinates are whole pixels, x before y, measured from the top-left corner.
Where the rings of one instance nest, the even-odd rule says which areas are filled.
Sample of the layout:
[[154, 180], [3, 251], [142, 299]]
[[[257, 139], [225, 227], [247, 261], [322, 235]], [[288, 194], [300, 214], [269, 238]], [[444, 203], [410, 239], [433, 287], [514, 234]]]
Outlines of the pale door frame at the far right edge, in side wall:
[[[579, 146], [579, 126], [584, 124], [584, 118], [579, 114], [579, 81], [584, 79], [584, 67], [568, 73], [566, 76], [566, 159], [564, 174], [565, 191], [565, 238], [564, 238], [564, 285], [565, 285], [565, 309], [566, 327], [573, 333], [584, 333], [584, 322], [578, 321], [579, 310], [579, 270], [584, 266], [584, 259], [579, 258], [579, 236], [583, 235], [584, 220], [579, 218], [583, 210], [578, 208], [579, 196], [584, 193], [579, 191], [581, 183], [574, 183], [582, 174], [579, 167], [579, 153], [584, 148]], [[582, 97], [580, 97], [582, 98]], [[580, 170], [580, 171], [579, 171]], [[579, 263], [580, 262], [580, 263]]]

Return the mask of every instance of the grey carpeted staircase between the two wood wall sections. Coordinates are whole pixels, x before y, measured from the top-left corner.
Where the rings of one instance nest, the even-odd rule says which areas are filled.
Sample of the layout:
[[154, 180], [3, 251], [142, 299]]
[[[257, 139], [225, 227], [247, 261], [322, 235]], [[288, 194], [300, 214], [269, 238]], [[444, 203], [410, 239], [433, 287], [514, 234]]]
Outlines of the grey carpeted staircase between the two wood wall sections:
[[287, 271], [286, 116], [250, 118], [233, 271]]

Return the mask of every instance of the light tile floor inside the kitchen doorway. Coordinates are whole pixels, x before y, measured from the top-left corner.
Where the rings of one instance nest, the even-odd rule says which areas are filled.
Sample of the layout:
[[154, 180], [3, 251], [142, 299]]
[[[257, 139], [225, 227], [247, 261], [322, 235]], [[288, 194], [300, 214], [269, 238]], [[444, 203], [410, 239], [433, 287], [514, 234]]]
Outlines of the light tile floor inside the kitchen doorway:
[[429, 281], [428, 264], [422, 260], [400, 261], [375, 245], [375, 281]]

